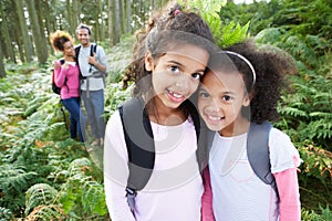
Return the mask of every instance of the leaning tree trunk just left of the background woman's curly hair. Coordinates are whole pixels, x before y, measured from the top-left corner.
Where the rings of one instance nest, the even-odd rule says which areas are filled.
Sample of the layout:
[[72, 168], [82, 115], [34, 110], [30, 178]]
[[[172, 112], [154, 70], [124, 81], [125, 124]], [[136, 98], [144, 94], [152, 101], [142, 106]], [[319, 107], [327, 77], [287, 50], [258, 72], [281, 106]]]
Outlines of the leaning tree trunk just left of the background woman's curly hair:
[[40, 32], [40, 23], [38, 22], [38, 13], [40, 12], [34, 8], [34, 0], [25, 0], [25, 2], [28, 6], [37, 57], [40, 64], [44, 64], [48, 61], [48, 48], [45, 46], [46, 42], [44, 40], [44, 34]]

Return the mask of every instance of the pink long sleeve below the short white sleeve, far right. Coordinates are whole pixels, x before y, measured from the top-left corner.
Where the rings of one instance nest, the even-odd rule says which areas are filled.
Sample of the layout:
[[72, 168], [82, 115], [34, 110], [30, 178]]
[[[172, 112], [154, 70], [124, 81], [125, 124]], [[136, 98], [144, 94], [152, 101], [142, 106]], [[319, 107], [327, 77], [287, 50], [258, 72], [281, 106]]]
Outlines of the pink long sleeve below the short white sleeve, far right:
[[273, 173], [279, 192], [279, 221], [300, 221], [301, 203], [297, 168]]

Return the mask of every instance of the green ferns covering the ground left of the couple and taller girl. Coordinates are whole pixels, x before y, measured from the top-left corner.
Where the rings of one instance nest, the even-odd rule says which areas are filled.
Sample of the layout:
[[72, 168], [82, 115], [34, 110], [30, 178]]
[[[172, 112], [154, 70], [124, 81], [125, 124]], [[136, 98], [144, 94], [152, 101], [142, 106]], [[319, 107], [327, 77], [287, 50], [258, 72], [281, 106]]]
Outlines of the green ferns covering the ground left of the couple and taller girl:
[[[89, 154], [69, 138], [59, 96], [50, 90], [49, 69], [9, 72], [6, 81], [0, 80], [0, 207], [6, 208], [1, 215], [20, 217], [24, 210], [27, 220], [63, 220], [69, 215], [65, 211], [77, 220], [105, 217], [102, 173], [90, 172], [87, 178], [82, 173], [75, 179], [66, 173], [73, 160]], [[64, 200], [76, 204], [69, 211], [60, 202], [71, 196], [63, 187], [73, 179], [81, 185], [68, 189], [80, 193], [72, 202]]]

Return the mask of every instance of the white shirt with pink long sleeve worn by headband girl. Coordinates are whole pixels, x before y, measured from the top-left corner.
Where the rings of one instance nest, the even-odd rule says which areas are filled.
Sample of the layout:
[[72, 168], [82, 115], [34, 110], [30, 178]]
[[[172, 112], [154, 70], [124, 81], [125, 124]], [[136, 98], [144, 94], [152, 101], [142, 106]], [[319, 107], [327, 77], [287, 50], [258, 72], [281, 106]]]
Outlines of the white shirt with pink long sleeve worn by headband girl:
[[247, 134], [222, 137], [216, 133], [209, 156], [215, 219], [217, 221], [300, 220], [297, 167], [301, 159], [290, 138], [277, 128], [270, 131], [271, 172], [277, 181], [279, 203], [271, 186], [262, 182], [251, 169], [246, 144]]

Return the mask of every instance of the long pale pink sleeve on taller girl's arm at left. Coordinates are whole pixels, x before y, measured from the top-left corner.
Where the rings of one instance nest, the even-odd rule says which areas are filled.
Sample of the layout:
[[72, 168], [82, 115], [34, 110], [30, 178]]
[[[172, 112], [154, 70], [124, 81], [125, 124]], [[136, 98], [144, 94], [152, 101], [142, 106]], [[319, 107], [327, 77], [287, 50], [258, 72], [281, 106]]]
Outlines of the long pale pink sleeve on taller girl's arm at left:
[[135, 221], [125, 191], [128, 178], [127, 158], [123, 127], [116, 110], [107, 122], [104, 145], [105, 196], [113, 221]]

